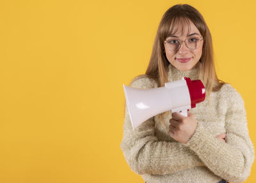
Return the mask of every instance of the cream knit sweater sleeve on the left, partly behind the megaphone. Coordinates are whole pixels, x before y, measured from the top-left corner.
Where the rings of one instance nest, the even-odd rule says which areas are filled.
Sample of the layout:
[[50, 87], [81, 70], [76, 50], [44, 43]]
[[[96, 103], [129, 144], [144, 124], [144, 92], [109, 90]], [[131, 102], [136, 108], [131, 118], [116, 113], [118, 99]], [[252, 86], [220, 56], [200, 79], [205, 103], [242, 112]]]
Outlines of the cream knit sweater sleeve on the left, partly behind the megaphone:
[[[131, 86], [149, 88], [148, 82], [148, 79], [140, 79]], [[120, 147], [135, 173], [163, 175], [194, 166], [205, 166], [195, 152], [182, 143], [161, 141], [154, 134], [154, 117], [133, 130], [125, 106], [124, 136]]]

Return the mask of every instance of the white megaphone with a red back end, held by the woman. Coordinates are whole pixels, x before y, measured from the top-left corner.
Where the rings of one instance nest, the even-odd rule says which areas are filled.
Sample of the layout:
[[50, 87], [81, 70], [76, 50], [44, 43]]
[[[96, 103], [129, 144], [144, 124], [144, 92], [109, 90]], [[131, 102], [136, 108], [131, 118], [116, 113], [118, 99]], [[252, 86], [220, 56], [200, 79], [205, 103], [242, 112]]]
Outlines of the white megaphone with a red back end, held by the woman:
[[132, 123], [136, 129], [152, 116], [172, 110], [188, 116], [188, 109], [205, 100], [204, 84], [200, 80], [182, 77], [178, 81], [164, 83], [163, 87], [141, 89], [124, 86], [125, 100]]

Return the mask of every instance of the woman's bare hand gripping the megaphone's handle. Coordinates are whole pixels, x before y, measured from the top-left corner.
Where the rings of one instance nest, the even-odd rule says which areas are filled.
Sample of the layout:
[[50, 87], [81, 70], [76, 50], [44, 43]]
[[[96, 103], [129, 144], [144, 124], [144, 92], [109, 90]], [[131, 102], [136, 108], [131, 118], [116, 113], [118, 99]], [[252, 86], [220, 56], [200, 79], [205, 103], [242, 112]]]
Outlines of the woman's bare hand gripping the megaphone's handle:
[[188, 111], [188, 117], [180, 115], [180, 113], [172, 113], [170, 119], [169, 134], [179, 141], [186, 143], [188, 139], [194, 134], [197, 127], [195, 116]]

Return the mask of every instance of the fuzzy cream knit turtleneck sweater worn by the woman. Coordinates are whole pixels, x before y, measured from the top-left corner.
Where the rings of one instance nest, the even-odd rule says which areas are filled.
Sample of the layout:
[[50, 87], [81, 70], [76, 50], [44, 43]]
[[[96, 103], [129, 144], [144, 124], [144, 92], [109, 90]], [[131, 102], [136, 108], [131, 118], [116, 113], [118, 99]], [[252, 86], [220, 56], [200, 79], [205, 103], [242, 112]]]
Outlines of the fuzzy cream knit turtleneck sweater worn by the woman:
[[[168, 80], [182, 77], [198, 79], [199, 68], [182, 72], [169, 65]], [[153, 79], [141, 78], [131, 86], [157, 88]], [[241, 95], [230, 84], [212, 92], [204, 102], [189, 110], [198, 123], [186, 144], [179, 143], [165, 131], [161, 118], [154, 116], [134, 131], [125, 107], [124, 138], [121, 148], [131, 169], [147, 182], [211, 182], [221, 179], [243, 182], [250, 175], [255, 151], [250, 139], [246, 111]], [[166, 129], [172, 113], [163, 119]], [[154, 128], [155, 122], [157, 122]], [[226, 143], [216, 138], [226, 132]]]

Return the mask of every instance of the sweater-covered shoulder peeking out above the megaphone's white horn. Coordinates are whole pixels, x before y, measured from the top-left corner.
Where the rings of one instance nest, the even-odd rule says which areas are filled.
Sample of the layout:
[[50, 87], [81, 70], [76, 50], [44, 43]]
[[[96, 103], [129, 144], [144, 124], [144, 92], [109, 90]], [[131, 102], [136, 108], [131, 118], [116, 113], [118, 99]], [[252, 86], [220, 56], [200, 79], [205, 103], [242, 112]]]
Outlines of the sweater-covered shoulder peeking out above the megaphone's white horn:
[[157, 79], [147, 76], [145, 74], [134, 77], [129, 85], [134, 88], [143, 88], [143, 89], [158, 87]]

